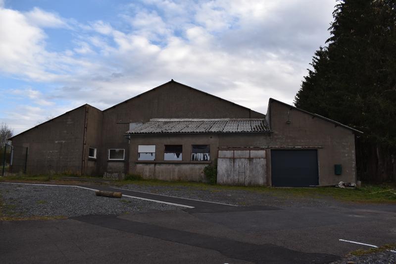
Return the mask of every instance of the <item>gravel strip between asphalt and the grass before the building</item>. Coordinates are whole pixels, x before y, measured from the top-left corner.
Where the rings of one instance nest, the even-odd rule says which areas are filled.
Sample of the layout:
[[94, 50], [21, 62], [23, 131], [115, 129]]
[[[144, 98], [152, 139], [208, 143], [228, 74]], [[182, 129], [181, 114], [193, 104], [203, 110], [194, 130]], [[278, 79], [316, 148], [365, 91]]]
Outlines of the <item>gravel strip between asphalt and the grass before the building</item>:
[[239, 206], [276, 206], [276, 207], [329, 207], [340, 205], [341, 202], [332, 198], [315, 199], [312, 197], [277, 196], [274, 193], [219, 189], [215, 187], [192, 186], [155, 186], [142, 184], [129, 184], [120, 188], [148, 192], [161, 195], [197, 199], [202, 201], [224, 203]]

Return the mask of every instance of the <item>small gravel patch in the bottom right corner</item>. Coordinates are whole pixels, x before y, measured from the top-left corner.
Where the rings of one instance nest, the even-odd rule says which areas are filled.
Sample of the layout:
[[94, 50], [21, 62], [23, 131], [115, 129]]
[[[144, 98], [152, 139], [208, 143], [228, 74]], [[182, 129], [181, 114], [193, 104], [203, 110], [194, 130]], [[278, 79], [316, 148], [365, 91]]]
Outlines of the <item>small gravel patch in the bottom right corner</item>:
[[377, 252], [361, 256], [347, 256], [331, 264], [395, 264], [396, 253], [391, 251]]

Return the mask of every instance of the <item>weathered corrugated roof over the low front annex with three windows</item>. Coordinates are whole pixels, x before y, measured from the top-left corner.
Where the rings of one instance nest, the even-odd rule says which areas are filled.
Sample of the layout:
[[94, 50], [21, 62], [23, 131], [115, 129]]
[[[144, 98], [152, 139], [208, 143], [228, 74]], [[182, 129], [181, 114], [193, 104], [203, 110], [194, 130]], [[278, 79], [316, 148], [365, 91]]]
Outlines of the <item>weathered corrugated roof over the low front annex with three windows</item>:
[[155, 118], [127, 131], [128, 134], [248, 132], [269, 132], [265, 119]]

